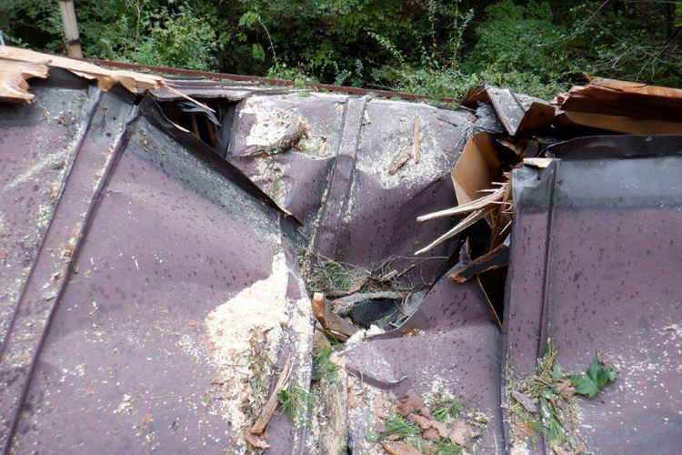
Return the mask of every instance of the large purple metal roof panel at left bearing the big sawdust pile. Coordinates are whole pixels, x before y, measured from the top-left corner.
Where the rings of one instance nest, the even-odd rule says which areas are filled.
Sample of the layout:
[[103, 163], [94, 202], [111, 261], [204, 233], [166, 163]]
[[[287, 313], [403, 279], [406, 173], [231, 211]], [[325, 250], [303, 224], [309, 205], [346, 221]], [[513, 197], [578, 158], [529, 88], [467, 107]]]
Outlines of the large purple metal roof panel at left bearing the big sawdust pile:
[[[22, 277], [0, 363], [5, 450], [244, 450], [246, 409], [267, 397], [285, 359], [296, 366], [292, 380], [310, 381], [313, 326], [290, 223], [222, 158], [166, 131], [151, 98], [134, 118], [124, 93], [65, 93], [53, 83], [35, 105], [11, 109], [30, 119], [87, 94], [92, 108], [79, 114], [88, 126], [65, 177], [31, 176], [48, 196], [55, 179], [65, 185], [37, 253], [24, 252], [33, 273]], [[3, 119], [8, 137], [28, 126]], [[54, 128], [44, 121], [30, 131]], [[0, 147], [5, 162], [15, 162], [13, 145]], [[35, 159], [65, 154], [41, 141], [23, 147]], [[5, 166], [3, 181], [25, 172], [16, 169]], [[26, 198], [20, 213], [29, 216], [14, 229], [40, 231], [34, 203]], [[251, 337], [255, 326], [264, 339]], [[260, 376], [231, 366], [246, 354], [266, 356]], [[261, 376], [257, 394], [245, 395], [251, 386], [241, 381]], [[269, 429], [272, 453], [306, 452], [305, 430], [285, 417]]]

